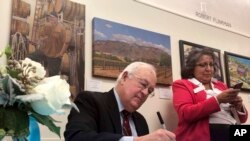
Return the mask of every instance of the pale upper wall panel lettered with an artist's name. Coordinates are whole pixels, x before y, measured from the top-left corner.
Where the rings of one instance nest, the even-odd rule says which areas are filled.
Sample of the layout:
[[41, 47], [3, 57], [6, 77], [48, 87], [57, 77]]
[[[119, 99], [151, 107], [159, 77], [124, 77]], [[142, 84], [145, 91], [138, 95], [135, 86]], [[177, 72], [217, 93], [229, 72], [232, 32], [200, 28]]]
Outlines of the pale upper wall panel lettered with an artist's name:
[[[248, 10], [250, 3], [245, 0], [237, 1], [216, 1], [216, 0], [134, 0], [144, 4], [172, 13], [174, 15], [194, 20], [218, 29], [250, 38], [248, 23]], [[223, 8], [220, 8], [222, 7]]]

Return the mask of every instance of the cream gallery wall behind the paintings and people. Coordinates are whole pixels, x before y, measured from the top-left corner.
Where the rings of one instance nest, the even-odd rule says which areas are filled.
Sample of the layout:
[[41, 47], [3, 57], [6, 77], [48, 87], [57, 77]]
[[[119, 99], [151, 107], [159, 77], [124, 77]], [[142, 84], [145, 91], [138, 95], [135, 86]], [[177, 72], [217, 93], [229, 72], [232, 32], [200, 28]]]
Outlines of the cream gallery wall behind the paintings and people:
[[[85, 84], [88, 80], [102, 81], [102, 91], [111, 89], [114, 85], [113, 80], [93, 78], [91, 71], [92, 53], [92, 26], [93, 17], [99, 17], [133, 27], [166, 34], [171, 37], [171, 51], [173, 64], [173, 79], [180, 78], [180, 57], [179, 40], [186, 40], [193, 43], [209, 46], [223, 51], [234, 52], [244, 56], [250, 56], [250, 38], [236, 35], [234, 33], [211, 27], [196, 21], [185, 19], [161, 10], [142, 5], [133, 0], [72, 0], [86, 5], [86, 33], [85, 33]], [[8, 42], [10, 2], [0, 1], [2, 10], [0, 22], [0, 47], [4, 47]], [[223, 57], [222, 57], [223, 58]], [[223, 63], [223, 61], [222, 61]], [[224, 63], [223, 63], [224, 66]], [[225, 75], [225, 73], [224, 73]], [[86, 88], [86, 86], [85, 86]], [[240, 93], [248, 111], [250, 111], [249, 93]], [[172, 107], [171, 100], [159, 99], [158, 90], [156, 95], [148, 98], [139, 111], [146, 117], [150, 131], [160, 128], [156, 111], [160, 111], [169, 130], [173, 130], [177, 124], [177, 116]], [[67, 115], [54, 116], [62, 121], [62, 126], [67, 122]], [[247, 121], [250, 124], [250, 118]], [[46, 127], [41, 126], [43, 140], [59, 140], [57, 136], [51, 134]], [[61, 134], [63, 137], [63, 134]], [[62, 139], [63, 140], [63, 139]]]

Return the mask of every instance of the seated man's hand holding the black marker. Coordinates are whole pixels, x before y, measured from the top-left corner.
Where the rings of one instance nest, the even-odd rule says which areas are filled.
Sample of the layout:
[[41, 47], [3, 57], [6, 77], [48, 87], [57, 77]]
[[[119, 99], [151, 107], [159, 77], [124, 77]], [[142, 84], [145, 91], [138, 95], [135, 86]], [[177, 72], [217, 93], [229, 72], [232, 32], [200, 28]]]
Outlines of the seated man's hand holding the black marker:
[[158, 129], [148, 135], [135, 137], [134, 141], [175, 141], [175, 134], [165, 129]]

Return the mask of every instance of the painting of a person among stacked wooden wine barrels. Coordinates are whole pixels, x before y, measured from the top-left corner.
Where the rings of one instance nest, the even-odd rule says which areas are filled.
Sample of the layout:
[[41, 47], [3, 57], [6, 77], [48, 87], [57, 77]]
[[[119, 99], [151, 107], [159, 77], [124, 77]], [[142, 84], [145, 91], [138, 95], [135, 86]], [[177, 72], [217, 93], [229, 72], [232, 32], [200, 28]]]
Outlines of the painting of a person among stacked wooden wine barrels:
[[84, 90], [85, 5], [70, 0], [12, 0], [13, 57], [40, 62], [46, 76], [61, 75], [72, 97]]

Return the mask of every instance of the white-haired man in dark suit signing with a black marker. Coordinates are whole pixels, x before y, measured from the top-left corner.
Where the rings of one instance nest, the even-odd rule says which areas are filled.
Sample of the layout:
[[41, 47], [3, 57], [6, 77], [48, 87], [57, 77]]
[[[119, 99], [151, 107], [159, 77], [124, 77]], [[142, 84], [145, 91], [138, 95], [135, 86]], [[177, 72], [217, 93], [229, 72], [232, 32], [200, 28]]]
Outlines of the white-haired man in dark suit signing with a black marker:
[[[75, 99], [80, 110], [68, 116], [66, 141], [170, 141], [175, 134], [158, 129], [149, 134], [145, 118], [136, 110], [154, 92], [155, 68], [144, 62], [128, 65], [109, 92], [81, 92]], [[129, 113], [123, 115], [123, 111]]]

